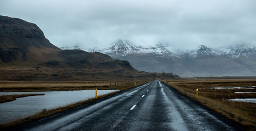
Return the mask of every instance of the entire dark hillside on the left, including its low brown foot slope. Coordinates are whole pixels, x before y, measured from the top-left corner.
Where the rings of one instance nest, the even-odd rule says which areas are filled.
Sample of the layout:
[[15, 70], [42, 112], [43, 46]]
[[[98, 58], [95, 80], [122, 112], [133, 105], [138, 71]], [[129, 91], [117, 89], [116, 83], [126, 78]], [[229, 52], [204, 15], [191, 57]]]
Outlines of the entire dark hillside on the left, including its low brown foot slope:
[[[171, 73], [153, 74], [134, 69], [128, 61], [98, 52], [61, 50], [45, 38], [36, 24], [0, 16], [0, 80], [49, 80], [52, 78], [92, 78], [115, 76], [133, 78], [178, 77]], [[3, 75], [2, 75], [3, 74]]]

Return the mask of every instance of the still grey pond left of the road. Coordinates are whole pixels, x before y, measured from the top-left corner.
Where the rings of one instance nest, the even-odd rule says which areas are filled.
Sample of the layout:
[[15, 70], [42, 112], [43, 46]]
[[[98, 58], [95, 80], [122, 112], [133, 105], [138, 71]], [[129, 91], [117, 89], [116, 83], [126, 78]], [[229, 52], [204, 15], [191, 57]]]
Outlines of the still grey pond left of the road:
[[[118, 90], [98, 90], [98, 95], [108, 94]], [[0, 103], [0, 124], [15, 119], [28, 117], [43, 109], [52, 109], [81, 100], [95, 97], [95, 90], [80, 91], [46, 91], [46, 92], [0, 92], [0, 95], [10, 94], [45, 94], [16, 98], [14, 101]]]

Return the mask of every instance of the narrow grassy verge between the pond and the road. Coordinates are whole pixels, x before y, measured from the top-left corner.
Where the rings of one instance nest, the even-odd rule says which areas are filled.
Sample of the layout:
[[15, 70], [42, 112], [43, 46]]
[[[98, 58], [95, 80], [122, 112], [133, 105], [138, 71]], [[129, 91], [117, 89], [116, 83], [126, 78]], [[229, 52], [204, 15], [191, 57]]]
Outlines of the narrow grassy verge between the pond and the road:
[[66, 111], [66, 110], [69, 110], [69, 109], [72, 109], [72, 108], [75, 108], [75, 107], [79, 107], [79, 106], [82, 106], [83, 104], [86, 104], [86, 103], [89, 103], [89, 102], [92, 102], [92, 101], [95, 101], [95, 100], [99, 100], [101, 98], [104, 98], [104, 97], [107, 97], [107, 96], [110, 96], [110, 95], [122, 92], [122, 91], [127, 90], [127, 89], [131, 89], [131, 88], [143, 85], [143, 84], [144, 83], [140, 83], [140, 84], [138, 84], [136, 86], [134, 86], [134, 85], [126, 85], [126, 86], [121, 86], [121, 87], [119, 86], [119, 88], [118, 88], [119, 91], [112, 92], [112, 93], [105, 94], [105, 95], [99, 95], [99, 96], [97, 96], [97, 99], [96, 98], [91, 98], [91, 99], [87, 99], [87, 100], [83, 100], [83, 101], [78, 101], [78, 102], [71, 103], [71, 104], [68, 104], [66, 106], [61, 106], [61, 107], [54, 108], [54, 109], [49, 109], [49, 110], [44, 109], [41, 112], [36, 113], [34, 115], [31, 115], [29, 117], [1, 124], [0, 125], [0, 130], [6, 130], [6, 129], [9, 129], [9, 128], [13, 127], [13, 126], [17, 126], [19, 124], [23, 124], [23, 123], [26, 123], [26, 122], [29, 122], [29, 121], [37, 120], [37, 119], [40, 119], [40, 118], [43, 118], [43, 117], [47, 117], [47, 116], [50, 116], [50, 115], [53, 115], [53, 114], [56, 114], [56, 113], [60, 113], [60, 112], [63, 112], [63, 111]]

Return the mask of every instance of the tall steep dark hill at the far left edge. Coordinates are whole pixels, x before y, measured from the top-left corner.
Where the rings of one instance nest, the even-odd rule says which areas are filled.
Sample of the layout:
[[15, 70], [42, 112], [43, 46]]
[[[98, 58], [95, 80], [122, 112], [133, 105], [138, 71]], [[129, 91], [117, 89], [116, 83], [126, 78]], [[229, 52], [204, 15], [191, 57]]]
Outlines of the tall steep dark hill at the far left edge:
[[44, 61], [46, 54], [61, 50], [36, 24], [7, 16], [0, 16], [0, 44], [2, 65], [33, 65]]

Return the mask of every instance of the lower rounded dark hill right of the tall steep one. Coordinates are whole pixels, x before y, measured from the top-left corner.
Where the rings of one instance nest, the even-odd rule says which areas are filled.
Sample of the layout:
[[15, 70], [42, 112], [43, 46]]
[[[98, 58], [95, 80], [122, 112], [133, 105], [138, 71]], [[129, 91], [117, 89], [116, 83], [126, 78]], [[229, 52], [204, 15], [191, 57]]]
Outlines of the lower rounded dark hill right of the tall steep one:
[[128, 61], [115, 60], [108, 55], [101, 53], [88, 53], [79, 49], [61, 50], [57, 53], [49, 53], [51, 60], [40, 63], [40, 66], [55, 68], [76, 68], [76, 69], [127, 69], [135, 70]]

